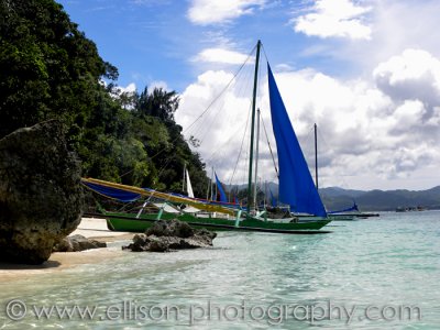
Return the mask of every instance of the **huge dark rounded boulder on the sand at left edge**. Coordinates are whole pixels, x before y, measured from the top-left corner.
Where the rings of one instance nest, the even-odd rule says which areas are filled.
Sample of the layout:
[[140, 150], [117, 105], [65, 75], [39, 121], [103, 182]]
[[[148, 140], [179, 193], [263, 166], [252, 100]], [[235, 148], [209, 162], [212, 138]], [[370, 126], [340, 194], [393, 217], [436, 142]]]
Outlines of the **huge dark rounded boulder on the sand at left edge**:
[[51, 120], [0, 140], [0, 261], [40, 264], [84, 206], [80, 165]]

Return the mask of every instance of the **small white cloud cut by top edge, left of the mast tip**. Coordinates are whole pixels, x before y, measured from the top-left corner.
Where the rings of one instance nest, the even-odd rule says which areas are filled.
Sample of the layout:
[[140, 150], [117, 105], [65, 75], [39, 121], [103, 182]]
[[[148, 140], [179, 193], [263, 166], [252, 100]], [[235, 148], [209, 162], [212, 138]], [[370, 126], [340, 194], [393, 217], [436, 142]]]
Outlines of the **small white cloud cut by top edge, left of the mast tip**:
[[239, 16], [251, 14], [266, 0], [193, 0], [188, 18], [195, 24], [208, 25], [229, 22]]

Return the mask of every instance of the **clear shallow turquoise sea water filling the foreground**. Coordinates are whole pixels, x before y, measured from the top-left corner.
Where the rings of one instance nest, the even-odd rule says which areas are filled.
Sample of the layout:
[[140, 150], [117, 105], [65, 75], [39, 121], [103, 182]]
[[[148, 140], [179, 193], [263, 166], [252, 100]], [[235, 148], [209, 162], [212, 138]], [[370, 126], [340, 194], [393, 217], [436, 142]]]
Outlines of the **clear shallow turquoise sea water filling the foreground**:
[[[3, 283], [0, 329], [440, 329], [439, 211], [383, 213], [328, 229], [220, 233], [213, 249], [127, 252]], [[26, 304], [20, 321], [7, 317], [11, 299]], [[96, 309], [84, 320], [77, 312], [72, 320], [37, 318], [55, 305]], [[20, 308], [12, 310], [18, 318]]]

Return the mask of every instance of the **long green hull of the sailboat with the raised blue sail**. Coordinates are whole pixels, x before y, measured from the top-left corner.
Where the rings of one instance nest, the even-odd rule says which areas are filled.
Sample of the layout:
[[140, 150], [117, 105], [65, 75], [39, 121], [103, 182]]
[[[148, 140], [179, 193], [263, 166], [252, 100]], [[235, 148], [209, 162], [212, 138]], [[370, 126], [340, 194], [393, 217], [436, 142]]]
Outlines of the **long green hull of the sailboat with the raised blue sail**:
[[[105, 215], [107, 219], [107, 226], [110, 230], [113, 231], [127, 231], [127, 232], [144, 232], [148, 229], [154, 221], [157, 220], [157, 215], [142, 215], [140, 219], [135, 219], [135, 215], [127, 215], [127, 213], [110, 213], [107, 212]], [[248, 218], [241, 220], [239, 226], [235, 227], [234, 219], [222, 219], [222, 218], [198, 218], [190, 215], [169, 215], [163, 213], [161, 219], [178, 219], [180, 221], [185, 221], [188, 224], [196, 228], [207, 228], [216, 231], [263, 231], [263, 232], [283, 232], [283, 233], [308, 233], [308, 231], [318, 231], [326, 224], [328, 224], [331, 220], [318, 220], [310, 222], [273, 222], [271, 220], [262, 221], [253, 218]]]

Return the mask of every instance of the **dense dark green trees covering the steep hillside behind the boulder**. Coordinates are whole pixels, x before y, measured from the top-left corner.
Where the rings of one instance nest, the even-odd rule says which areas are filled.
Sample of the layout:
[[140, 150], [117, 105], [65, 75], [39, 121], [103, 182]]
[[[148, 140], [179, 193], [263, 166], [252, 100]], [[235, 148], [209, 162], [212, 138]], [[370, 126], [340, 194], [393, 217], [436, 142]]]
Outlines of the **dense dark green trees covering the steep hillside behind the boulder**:
[[186, 164], [202, 196], [205, 164], [174, 121], [176, 92], [121, 94], [117, 79], [61, 4], [0, 0], [0, 138], [57, 118], [84, 176], [179, 191]]

